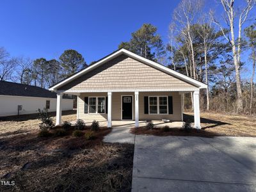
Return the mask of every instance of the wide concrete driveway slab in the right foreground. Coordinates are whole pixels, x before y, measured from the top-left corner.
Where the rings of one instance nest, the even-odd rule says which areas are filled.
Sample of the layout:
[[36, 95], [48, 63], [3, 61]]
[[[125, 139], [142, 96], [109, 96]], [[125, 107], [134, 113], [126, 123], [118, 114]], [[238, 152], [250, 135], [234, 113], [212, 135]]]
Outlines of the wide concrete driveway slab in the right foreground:
[[256, 138], [136, 136], [132, 191], [256, 191]]

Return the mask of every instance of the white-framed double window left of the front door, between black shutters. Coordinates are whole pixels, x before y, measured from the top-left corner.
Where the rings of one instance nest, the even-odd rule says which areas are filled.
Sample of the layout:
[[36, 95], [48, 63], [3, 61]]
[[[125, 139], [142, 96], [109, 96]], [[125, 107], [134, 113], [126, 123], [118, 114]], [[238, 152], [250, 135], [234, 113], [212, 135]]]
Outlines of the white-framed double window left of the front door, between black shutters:
[[89, 97], [89, 113], [105, 113], [105, 97]]

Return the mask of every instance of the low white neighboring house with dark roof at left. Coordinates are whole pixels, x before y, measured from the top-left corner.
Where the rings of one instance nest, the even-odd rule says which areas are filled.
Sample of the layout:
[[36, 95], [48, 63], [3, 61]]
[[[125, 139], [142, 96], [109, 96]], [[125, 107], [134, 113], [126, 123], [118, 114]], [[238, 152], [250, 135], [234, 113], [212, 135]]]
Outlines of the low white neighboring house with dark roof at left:
[[[67, 99], [65, 99], [67, 98]], [[73, 99], [62, 99], [63, 110], [73, 109]], [[37, 113], [47, 108], [56, 111], [56, 93], [37, 86], [0, 81], [0, 116]]]

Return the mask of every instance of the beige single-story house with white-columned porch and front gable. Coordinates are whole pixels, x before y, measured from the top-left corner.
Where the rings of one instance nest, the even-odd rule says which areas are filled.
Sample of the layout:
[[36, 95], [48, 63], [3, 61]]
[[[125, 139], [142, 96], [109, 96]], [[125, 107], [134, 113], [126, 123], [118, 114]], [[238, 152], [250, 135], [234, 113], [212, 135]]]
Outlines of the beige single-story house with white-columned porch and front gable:
[[119, 49], [55, 84], [56, 124], [61, 124], [61, 95], [78, 95], [83, 120], [183, 120], [183, 95], [193, 92], [195, 127], [200, 129], [199, 91], [207, 85], [126, 49]]

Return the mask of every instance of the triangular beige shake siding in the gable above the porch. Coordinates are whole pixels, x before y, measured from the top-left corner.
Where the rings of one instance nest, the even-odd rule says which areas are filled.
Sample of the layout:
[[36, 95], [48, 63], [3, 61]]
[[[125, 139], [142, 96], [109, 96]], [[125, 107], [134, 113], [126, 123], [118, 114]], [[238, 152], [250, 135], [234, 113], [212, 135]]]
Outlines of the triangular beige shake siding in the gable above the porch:
[[[58, 90], [156, 90], [170, 88], [195, 88], [169, 74], [122, 54]], [[113, 109], [113, 111], [115, 111]]]

